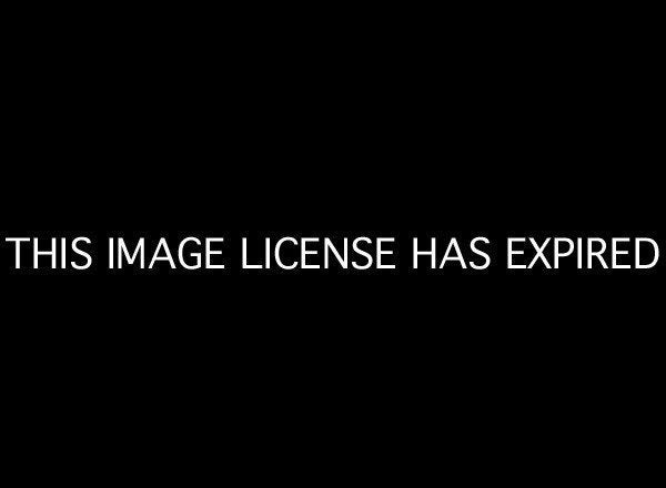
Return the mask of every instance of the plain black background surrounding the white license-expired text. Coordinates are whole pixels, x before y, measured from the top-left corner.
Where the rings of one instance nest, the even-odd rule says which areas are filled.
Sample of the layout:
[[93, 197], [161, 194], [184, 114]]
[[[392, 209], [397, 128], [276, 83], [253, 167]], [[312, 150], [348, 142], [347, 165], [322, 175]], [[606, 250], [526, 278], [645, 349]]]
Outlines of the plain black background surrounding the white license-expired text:
[[[663, 264], [511, 273], [503, 242], [663, 245], [657, 32], [598, 12], [274, 13], [33, 12], [3, 61], [2, 236], [395, 235], [401, 270], [6, 266], [13, 458], [635, 476], [659, 431]], [[412, 236], [475, 235], [488, 272], [408, 271]]]

